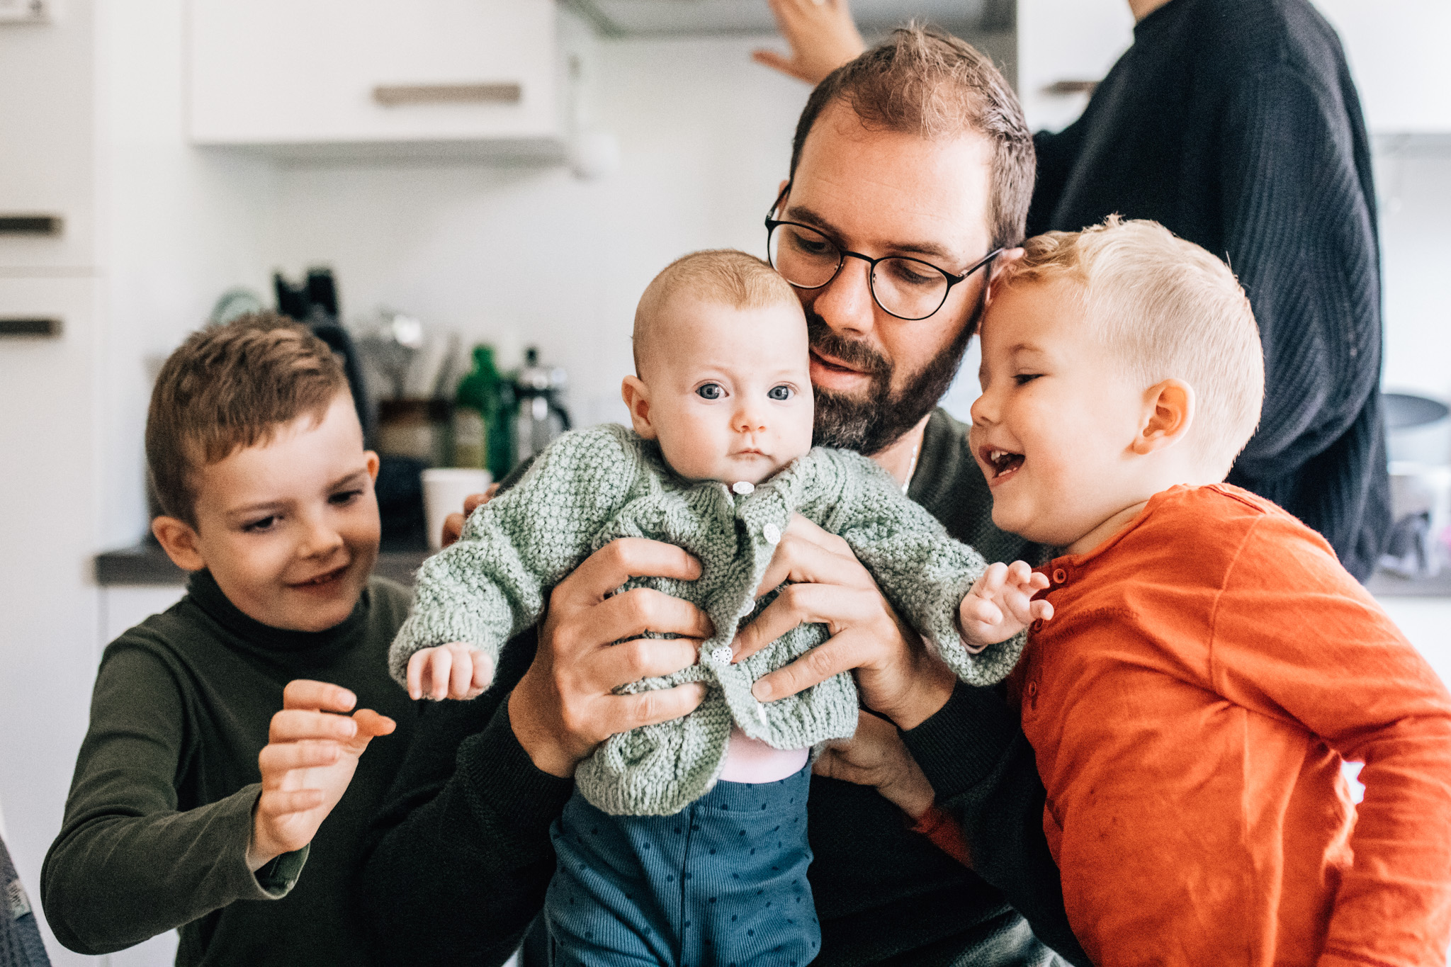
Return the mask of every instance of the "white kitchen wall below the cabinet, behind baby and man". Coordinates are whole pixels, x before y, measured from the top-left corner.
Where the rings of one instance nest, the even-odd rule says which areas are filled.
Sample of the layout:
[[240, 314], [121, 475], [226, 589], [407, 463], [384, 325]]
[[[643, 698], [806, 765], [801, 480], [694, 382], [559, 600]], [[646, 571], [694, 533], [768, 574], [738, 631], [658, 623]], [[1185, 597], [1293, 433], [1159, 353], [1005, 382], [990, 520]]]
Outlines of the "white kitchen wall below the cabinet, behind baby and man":
[[598, 181], [563, 168], [283, 168], [267, 254], [295, 274], [331, 264], [350, 318], [389, 304], [505, 354], [535, 342], [569, 370], [579, 420], [622, 418], [646, 283], [691, 249], [765, 249], [808, 90], [752, 64], [757, 43], [602, 42], [593, 119], [622, 158]]

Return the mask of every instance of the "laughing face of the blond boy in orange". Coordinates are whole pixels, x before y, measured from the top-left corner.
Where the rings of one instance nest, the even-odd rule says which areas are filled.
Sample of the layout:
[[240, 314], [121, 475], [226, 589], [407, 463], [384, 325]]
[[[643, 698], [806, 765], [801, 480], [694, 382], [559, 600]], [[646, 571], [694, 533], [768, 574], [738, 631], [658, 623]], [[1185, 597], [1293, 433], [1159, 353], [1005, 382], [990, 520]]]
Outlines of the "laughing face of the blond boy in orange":
[[1145, 391], [1068, 286], [1030, 281], [994, 294], [968, 438], [992, 490], [992, 523], [1051, 547], [1074, 544], [1142, 490], [1130, 445]]

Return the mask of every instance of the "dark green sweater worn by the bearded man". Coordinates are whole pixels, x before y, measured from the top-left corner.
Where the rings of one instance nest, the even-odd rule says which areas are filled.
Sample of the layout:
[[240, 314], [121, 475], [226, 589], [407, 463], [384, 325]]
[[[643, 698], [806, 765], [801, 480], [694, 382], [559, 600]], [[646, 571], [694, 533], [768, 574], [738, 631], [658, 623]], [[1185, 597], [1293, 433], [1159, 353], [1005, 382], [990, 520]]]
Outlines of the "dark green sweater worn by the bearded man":
[[[1032, 560], [1036, 548], [992, 526], [965, 432], [945, 412], [933, 413], [908, 494], [988, 561]], [[525, 964], [544, 963], [534, 941], [554, 873], [548, 829], [573, 783], [535, 768], [509, 728], [506, 697], [534, 648], [533, 632], [515, 638], [489, 692], [431, 706], [419, 722], [363, 877], [385, 963], [502, 964], [531, 924]], [[904, 738], [939, 803], [963, 823], [977, 873], [911, 832], [875, 789], [814, 776], [815, 967], [1051, 963], [1023, 916], [1085, 964], [1043, 839], [1033, 751], [998, 693], [958, 684], [952, 700]]]

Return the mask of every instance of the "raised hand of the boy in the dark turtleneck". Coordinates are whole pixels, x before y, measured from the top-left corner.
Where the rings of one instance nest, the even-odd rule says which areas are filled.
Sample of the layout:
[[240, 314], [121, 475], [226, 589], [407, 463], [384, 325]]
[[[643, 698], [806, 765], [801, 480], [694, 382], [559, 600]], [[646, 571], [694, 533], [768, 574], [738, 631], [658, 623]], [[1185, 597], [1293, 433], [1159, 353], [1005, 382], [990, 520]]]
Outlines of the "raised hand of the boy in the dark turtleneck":
[[355, 694], [326, 681], [297, 678], [283, 689], [281, 712], [273, 716], [267, 745], [257, 757], [263, 794], [247, 845], [247, 867], [254, 873], [312, 842], [347, 792], [369, 741], [396, 728], [393, 719], [371, 709], [345, 715], [354, 705]]

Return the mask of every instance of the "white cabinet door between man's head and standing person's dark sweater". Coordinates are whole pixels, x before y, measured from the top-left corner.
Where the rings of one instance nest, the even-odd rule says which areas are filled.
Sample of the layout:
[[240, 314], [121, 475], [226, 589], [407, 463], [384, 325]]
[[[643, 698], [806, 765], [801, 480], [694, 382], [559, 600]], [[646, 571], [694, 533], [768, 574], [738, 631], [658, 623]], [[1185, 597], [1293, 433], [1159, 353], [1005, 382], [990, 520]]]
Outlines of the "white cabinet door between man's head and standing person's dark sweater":
[[1061, 130], [1133, 43], [1125, 0], [1020, 0], [1017, 96], [1032, 130]]

